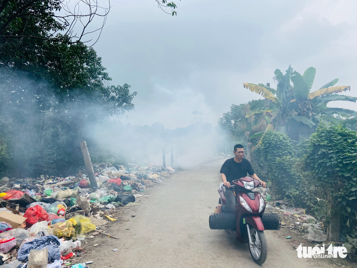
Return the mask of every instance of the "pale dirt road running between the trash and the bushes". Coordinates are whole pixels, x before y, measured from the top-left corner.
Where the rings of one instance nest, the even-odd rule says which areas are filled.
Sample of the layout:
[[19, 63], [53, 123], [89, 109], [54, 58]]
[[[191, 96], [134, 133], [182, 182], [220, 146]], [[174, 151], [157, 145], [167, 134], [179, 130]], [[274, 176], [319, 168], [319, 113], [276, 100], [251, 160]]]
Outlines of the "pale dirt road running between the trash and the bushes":
[[[108, 229], [119, 237], [86, 239], [102, 243], [87, 251], [91, 268], [240, 268], [259, 267], [224, 230], [210, 230], [208, 217], [218, 203], [223, 160], [182, 171], [149, 191], [140, 206], [125, 209], [123, 221]], [[135, 215], [133, 218], [132, 215]], [[298, 259], [276, 231], [265, 231], [268, 258], [263, 267], [302, 268], [333, 266], [325, 260]], [[119, 251], [113, 252], [113, 248]]]

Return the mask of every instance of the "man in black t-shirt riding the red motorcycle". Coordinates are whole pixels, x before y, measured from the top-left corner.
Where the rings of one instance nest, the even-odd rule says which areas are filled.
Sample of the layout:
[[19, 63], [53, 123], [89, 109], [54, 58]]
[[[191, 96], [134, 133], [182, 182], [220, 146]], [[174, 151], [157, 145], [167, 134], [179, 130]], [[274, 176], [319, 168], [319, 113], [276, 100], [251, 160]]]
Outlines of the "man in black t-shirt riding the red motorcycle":
[[220, 171], [221, 179], [226, 188], [226, 204], [219, 204], [215, 209], [216, 213], [235, 213], [236, 197], [234, 195], [233, 189], [230, 187], [232, 180], [246, 177], [248, 173], [252, 179], [259, 180], [260, 184], [262, 184], [264, 188], [266, 187], [266, 183], [259, 179], [258, 176], [254, 173], [250, 162], [247, 159], [243, 158], [245, 153], [243, 145], [235, 145], [233, 153], [234, 158], [227, 159], [223, 163]]

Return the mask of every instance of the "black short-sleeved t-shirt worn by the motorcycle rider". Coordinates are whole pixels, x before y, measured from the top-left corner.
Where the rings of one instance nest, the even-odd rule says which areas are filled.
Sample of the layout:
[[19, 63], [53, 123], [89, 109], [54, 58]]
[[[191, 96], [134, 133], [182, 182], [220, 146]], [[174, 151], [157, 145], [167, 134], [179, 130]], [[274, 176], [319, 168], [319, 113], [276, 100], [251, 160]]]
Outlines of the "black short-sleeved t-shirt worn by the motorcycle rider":
[[232, 182], [232, 180], [246, 177], [246, 173], [253, 175], [254, 170], [247, 159], [243, 158], [242, 162], [237, 163], [234, 158], [230, 158], [223, 163], [220, 173], [225, 175], [227, 181]]

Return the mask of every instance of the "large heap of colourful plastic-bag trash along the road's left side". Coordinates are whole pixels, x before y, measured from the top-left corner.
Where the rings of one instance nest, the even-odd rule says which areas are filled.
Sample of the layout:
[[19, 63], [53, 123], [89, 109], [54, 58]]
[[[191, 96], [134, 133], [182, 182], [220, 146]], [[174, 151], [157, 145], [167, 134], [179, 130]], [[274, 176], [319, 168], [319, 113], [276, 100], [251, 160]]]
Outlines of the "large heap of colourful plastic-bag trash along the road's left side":
[[96, 222], [116, 221], [115, 208], [136, 204], [139, 192], [175, 172], [157, 165], [110, 163], [93, 164], [93, 169], [97, 189], [90, 188], [83, 169], [67, 178], [0, 180], [1, 267], [86, 267], [90, 261], [72, 265], [69, 259], [84, 251], [86, 235], [103, 233]]

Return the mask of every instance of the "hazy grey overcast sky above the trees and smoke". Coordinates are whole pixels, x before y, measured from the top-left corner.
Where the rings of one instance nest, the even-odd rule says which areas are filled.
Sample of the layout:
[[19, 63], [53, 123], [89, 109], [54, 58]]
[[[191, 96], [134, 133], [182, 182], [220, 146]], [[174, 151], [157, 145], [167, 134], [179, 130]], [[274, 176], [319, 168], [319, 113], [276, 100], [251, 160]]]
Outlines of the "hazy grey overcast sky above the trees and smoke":
[[[171, 1], [171, 0], [170, 0]], [[124, 124], [217, 124], [232, 104], [258, 99], [243, 83], [273, 82], [276, 68], [315, 67], [313, 90], [339, 78], [357, 96], [356, 0], [173, 0], [178, 16], [155, 0], [112, 1], [97, 44], [112, 84], [137, 91]], [[331, 107], [357, 110], [353, 102]], [[200, 117], [200, 116], [199, 116]]]

